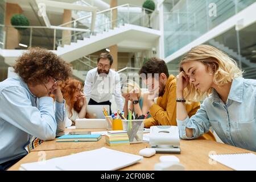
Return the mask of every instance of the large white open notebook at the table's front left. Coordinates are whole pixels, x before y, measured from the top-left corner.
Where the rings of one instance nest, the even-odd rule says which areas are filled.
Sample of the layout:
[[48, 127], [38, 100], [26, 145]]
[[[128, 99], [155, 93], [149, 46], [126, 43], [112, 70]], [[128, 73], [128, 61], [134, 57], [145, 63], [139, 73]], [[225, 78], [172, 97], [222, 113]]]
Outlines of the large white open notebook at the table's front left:
[[96, 150], [46, 160], [44, 162], [21, 164], [20, 170], [111, 171], [130, 166], [142, 159], [143, 157], [139, 155], [128, 154], [102, 147]]

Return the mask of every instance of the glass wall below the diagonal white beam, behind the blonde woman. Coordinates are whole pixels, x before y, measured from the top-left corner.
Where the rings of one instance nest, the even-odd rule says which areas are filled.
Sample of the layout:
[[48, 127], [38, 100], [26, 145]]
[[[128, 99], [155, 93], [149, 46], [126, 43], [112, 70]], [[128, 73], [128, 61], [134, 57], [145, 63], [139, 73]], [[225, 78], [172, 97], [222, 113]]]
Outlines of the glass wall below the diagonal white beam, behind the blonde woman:
[[[243, 77], [256, 79], [256, 23], [251, 26], [236, 31], [235, 28], [224, 32], [214, 39], [205, 42], [227, 53], [243, 71]], [[183, 55], [184, 56], [184, 55]], [[171, 74], [177, 75], [179, 63], [183, 56], [167, 63]]]

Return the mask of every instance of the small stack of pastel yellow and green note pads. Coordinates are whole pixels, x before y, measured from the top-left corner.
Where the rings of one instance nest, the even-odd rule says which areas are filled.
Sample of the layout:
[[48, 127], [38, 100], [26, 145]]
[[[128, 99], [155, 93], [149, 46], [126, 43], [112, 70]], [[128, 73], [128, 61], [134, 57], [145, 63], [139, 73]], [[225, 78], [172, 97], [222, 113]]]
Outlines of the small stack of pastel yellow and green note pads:
[[122, 146], [130, 144], [127, 131], [123, 130], [114, 130], [108, 131], [108, 134], [105, 135], [106, 143], [109, 146]]

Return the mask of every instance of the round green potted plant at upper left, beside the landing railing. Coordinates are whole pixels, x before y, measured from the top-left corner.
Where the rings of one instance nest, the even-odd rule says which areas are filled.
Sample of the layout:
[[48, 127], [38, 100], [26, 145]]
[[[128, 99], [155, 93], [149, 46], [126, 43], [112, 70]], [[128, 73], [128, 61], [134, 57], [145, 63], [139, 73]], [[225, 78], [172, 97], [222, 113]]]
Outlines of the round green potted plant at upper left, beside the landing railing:
[[[22, 14], [15, 14], [11, 17], [11, 25], [12, 26], [30, 26], [30, 22], [28, 21], [27, 17]], [[27, 28], [23, 27], [14, 27], [18, 30], [18, 40], [20, 42], [22, 31], [26, 30]]]

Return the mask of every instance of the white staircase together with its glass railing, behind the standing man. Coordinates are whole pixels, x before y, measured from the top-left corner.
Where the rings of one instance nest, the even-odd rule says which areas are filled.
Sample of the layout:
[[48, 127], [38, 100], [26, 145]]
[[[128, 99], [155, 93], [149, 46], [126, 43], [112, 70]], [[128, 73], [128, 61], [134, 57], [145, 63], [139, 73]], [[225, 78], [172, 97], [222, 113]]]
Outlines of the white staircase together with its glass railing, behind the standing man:
[[[117, 16], [113, 16], [117, 11]], [[54, 30], [52, 32], [55, 32], [54, 35], [51, 35], [54, 39], [54, 45], [51, 45], [53, 49], [57, 44], [57, 50], [52, 52], [71, 63], [83, 56], [113, 45], [121, 48], [151, 49], [161, 35], [160, 31], [156, 30], [158, 29], [158, 13], [156, 11], [151, 14], [152, 22], [156, 22], [151, 24], [153, 28], [147, 28], [146, 9], [129, 4], [97, 12], [93, 32], [90, 32], [92, 25], [86, 24], [86, 20], [92, 19], [92, 15], [59, 26], [52, 26], [51, 28]], [[72, 35], [63, 38], [61, 34], [56, 34], [56, 32], [63, 30], [70, 31]], [[13, 51], [15, 53], [12, 53]], [[22, 55], [24, 51], [26, 50], [3, 50], [1, 55], [5, 57], [6, 64], [13, 66], [16, 58]]]

